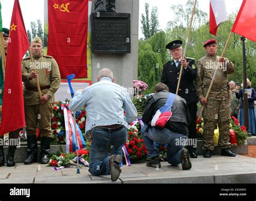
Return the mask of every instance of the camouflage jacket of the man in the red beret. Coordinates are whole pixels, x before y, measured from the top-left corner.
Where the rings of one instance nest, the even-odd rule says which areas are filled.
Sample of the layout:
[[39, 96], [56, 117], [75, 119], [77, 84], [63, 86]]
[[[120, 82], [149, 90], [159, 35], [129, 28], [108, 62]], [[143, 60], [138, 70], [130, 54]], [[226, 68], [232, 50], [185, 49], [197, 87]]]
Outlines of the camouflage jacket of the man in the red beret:
[[234, 64], [225, 58], [225, 63], [219, 63], [219, 56], [205, 56], [197, 62], [197, 78], [195, 85], [199, 100], [205, 98], [208, 88], [210, 87], [213, 74], [217, 68], [211, 91], [207, 99], [210, 100], [227, 100], [230, 99], [227, 89], [227, 74], [234, 72]]

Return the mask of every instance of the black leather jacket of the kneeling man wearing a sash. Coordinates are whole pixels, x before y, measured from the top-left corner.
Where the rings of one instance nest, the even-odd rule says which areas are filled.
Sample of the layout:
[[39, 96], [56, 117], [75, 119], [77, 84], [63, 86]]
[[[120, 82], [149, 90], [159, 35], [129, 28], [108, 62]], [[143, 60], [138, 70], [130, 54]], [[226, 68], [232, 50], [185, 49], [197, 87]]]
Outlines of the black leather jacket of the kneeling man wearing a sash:
[[[142, 116], [144, 123], [151, 123], [154, 114], [156, 114], [160, 107], [165, 105], [168, 96], [169, 92], [162, 91], [149, 97]], [[186, 101], [180, 96], [176, 95], [171, 111], [171, 121], [166, 124], [166, 128], [176, 133], [188, 135], [187, 126], [190, 124], [191, 118], [190, 113], [188, 112]]]

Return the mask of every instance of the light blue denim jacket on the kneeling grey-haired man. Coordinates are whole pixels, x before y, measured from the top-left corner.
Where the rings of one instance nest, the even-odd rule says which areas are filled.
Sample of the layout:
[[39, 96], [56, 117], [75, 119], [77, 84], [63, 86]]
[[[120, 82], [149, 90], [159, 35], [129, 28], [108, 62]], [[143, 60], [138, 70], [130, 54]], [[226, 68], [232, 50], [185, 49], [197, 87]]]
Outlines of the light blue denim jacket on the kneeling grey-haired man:
[[78, 111], [83, 106], [86, 107], [85, 133], [96, 126], [122, 124], [128, 127], [137, 117], [137, 110], [125, 88], [107, 77], [85, 88], [82, 93], [75, 93], [69, 109]]

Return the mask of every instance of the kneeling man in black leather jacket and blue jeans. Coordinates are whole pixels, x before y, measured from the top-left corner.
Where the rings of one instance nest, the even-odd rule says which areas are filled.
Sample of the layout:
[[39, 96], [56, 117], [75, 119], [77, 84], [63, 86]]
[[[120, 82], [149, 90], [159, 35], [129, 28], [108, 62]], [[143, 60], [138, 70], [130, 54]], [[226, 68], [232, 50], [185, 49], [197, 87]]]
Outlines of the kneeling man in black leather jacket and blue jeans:
[[159, 151], [154, 142], [168, 144], [167, 162], [173, 166], [182, 164], [183, 170], [191, 169], [190, 155], [187, 149], [184, 149], [188, 136], [188, 124], [190, 123], [190, 114], [187, 109], [186, 101], [179, 95], [176, 95], [171, 107], [172, 116], [166, 123], [165, 128], [158, 129], [151, 127], [151, 121], [157, 110], [165, 105], [169, 97], [169, 89], [159, 83], [154, 87], [154, 93], [147, 101], [142, 120], [145, 126], [142, 128], [142, 137], [147, 148], [147, 155], [151, 158], [146, 163], [150, 167], [161, 167]]

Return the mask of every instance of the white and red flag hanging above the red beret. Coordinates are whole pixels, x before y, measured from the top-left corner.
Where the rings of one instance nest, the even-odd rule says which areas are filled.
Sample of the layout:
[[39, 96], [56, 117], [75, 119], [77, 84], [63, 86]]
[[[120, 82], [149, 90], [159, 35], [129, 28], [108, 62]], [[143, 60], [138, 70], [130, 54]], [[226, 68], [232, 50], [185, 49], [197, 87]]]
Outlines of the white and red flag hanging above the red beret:
[[227, 20], [224, 0], [210, 0], [210, 33], [216, 36], [220, 23]]

